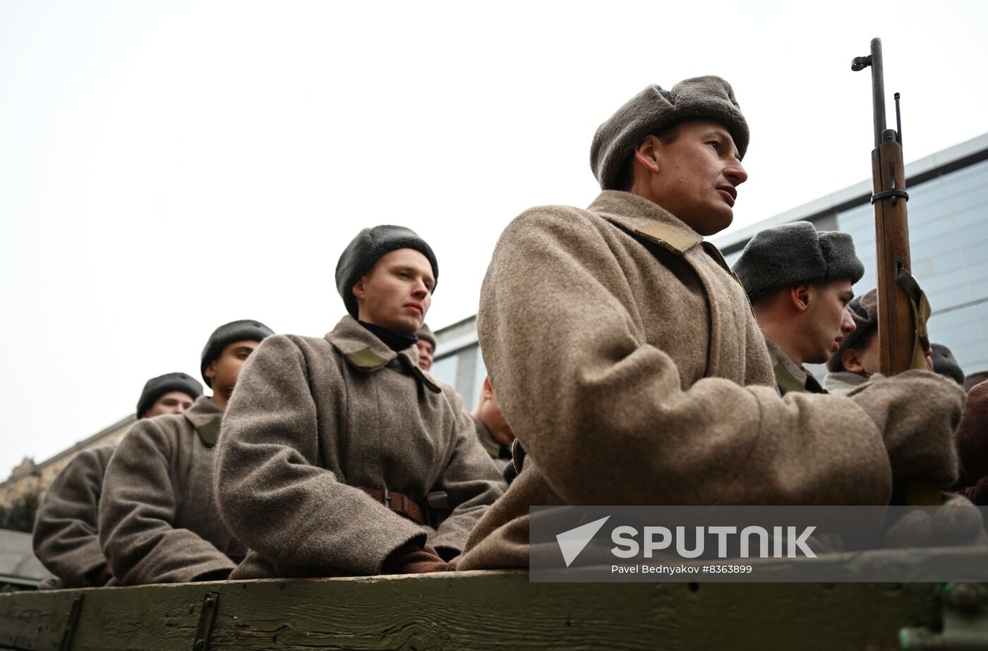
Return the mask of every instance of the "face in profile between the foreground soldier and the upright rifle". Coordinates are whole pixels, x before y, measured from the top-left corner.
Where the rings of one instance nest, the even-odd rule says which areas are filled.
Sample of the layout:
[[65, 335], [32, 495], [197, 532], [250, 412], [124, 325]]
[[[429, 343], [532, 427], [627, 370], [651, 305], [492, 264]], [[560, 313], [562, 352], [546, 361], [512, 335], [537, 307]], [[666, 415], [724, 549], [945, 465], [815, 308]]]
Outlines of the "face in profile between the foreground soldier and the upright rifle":
[[854, 298], [850, 280], [809, 286], [809, 306], [797, 327], [804, 333], [804, 362], [823, 364], [855, 330], [848, 303]]

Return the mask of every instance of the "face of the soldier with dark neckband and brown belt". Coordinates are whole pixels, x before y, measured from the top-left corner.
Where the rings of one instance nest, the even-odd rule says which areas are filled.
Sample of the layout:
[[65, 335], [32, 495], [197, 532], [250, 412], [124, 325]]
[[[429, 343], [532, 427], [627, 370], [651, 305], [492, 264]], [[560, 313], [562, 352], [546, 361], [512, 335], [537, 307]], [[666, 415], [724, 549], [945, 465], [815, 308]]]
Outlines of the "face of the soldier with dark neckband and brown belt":
[[422, 328], [436, 286], [429, 259], [415, 249], [382, 255], [354, 285], [362, 321], [414, 335]]

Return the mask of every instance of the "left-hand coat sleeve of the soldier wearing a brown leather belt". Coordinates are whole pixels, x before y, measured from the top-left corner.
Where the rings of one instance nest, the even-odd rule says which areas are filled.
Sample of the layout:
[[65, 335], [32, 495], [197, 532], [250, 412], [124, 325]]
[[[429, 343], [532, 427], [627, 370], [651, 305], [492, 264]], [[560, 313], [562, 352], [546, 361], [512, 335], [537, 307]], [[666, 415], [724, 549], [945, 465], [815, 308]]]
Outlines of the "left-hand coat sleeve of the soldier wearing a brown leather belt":
[[425, 544], [425, 531], [339, 481], [319, 458], [304, 355], [287, 336], [269, 337], [241, 369], [223, 416], [216, 496], [227, 527], [277, 565], [326, 574], [379, 574], [392, 551]]

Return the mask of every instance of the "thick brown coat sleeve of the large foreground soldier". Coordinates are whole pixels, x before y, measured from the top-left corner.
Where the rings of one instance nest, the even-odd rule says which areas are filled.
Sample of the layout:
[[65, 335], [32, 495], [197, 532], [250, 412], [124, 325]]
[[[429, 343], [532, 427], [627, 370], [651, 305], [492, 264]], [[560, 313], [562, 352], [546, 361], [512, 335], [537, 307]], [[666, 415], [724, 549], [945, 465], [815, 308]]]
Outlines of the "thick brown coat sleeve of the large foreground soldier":
[[[783, 400], [715, 377], [684, 389], [670, 355], [646, 341], [640, 297], [612, 246], [579, 210], [535, 208], [502, 234], [481, 290], [478, 335], [502, 411], [558, 495], [581, 505], [887, 504], [888, 456], [854, 401]], [[677, 290], [654, 299], [680, 309]]]

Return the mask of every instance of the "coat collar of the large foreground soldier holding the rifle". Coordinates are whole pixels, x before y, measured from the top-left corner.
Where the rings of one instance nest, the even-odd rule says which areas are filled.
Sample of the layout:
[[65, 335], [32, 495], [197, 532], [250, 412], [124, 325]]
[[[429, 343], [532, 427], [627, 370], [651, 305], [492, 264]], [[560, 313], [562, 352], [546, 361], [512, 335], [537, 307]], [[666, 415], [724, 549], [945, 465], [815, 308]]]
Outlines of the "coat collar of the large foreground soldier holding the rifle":
[[605, 190], [587, 209], [679, 255], [703, 241], [700, 233], [672, 212], [631, 193]]

